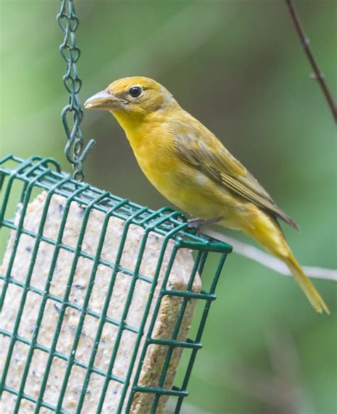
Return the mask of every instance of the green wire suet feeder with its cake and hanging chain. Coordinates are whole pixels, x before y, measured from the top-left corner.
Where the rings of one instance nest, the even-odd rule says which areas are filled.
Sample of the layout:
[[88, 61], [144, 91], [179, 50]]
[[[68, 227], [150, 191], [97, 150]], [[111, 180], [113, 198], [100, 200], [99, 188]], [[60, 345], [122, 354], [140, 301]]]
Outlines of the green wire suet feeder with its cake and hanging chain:
[[164, 413], [170, 399], [179, 413], [232, 248], [181, 212], [82, 182], [92, 141], [83, 150], [73, 0], [58, 22], [74, 175], [50, 158], [0, 160], [0, 412]]

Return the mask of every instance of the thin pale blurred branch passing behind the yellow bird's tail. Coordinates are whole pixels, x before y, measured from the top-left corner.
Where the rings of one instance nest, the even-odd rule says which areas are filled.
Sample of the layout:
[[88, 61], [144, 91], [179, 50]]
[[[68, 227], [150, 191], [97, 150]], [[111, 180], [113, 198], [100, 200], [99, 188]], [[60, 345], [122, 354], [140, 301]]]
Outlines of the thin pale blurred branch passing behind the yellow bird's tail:
[[[285, 276], [291, 276], [289, 269], [283, 262], [281, 262], [281, 260], [276, 257], [272, 257], [268, 253], [262, 252], [262, 250], [257, 249], [257, 247], [239, 242], [237, 239], [225, 236], [222, 233], [214, 232], [213, 230], [207, 229], [205, 230], [205, 234], [231, 244], [233, 251], [241, 256], [245, 256], [248, 259], [254, 260], [254, 262], [269, 267], [269, 269], [273, 269], [274, 271], [277, 271], [277, 273], [284, 274]], [[303, 266], [303, 270], [308, 277], [337, 281], [337, 270], [335, 269], [326, 269], [316, 266]]]

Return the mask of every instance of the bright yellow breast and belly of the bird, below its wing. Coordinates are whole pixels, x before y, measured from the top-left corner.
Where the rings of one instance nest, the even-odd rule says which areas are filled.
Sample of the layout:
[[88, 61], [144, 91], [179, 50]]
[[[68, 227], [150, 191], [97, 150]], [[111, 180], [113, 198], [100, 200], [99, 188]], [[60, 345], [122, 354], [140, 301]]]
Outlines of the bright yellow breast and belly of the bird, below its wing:
[[227, 215], [232, 195], [183, 160], [163, 125], [129, 131], [127, 138], [148, 180], [179, 209], [202, 219]]

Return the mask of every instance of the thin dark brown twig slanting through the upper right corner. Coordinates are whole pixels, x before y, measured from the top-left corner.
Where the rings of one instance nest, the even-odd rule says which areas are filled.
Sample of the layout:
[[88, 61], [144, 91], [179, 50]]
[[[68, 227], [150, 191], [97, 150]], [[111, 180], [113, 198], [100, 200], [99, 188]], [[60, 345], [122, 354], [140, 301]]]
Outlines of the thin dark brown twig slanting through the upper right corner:
[[335, 120], [335, 122], [337, 122], [337, 107], [336, 107], [336, 104], [333, 100], [333, 96], [331, 95], [330, 90], [328, 89], [328, 86], [326, 85], [326, 81], [324, 80], [324, 76], [321, 73], [321, 71], [319, 70], [319, 66], [316, 62], [316, 59], [314, 58], [314, 54], [312, 53], [312, 51], [309, 47], [309, 43], [310, 43], [309, 38], [306, 37], [306, 35], [304, 33], [304, 30], [302, 29], [301, 23], [299, 21], [299, 16], [296, 13], [294, 3], [293, 3], [292, 0], [285, 0], [285, 1], [286, 1], [287, 6], [288, 6], [288, 9], [289, 9], [291, 20], [294, 23], [296, 32], [299, 35], [299, 39], [300, 39], [301, 44], [304, 48], [306, 56], [309, 59], [311, 67], [314, 70], [314, 73], [312, 74], [311, 78], [314, 78], [319, 82], [319, 85], [321, 86], [321, 90], [323, 91], [323, 94], [326, 98], [326, 102], [328, 103], [328, 105], [331, 109], [333, 119]]

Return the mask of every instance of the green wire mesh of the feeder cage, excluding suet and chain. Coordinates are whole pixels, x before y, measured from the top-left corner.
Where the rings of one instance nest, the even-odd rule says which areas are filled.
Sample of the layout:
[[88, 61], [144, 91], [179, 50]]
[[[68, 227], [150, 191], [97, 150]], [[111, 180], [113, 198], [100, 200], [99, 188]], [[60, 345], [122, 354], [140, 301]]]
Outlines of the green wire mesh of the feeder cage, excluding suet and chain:
[[[90, 381], [90, 376], [96, 374], [104, 378], [102, 390], [100, 392], [99, 403], [97, 405], [97, 413], [102, 412], [102, 407], [105, 402], [105, 397], [108, 392], [109, 383], [111, 381], [117, 381], [121, 384], [122, 394], [120, 395], [117, 413], [129, 412], [132, 406], [132, 400], [136, 393], [151, 393], [154, 398], [151, 400], [151, 413], [156, 413], [156, 409], [159, 404], [159, 399], [162, 395], [169, 395], [174, 399], [174, 412], [179, 413], [181, 410], [181, 404], [183, 398], [188, 395], [187, 385], [191, 376], [193, 363], [196, 358], [198, 349], [201, 348], [200, 339], [203, 334], [205, 321], [208, 316], [210, 304], [215, 300], [215, 287], [220, 276], [220, 272], [223, 268], [225, 258], [231, 251], [231, 247], [223, 242], [218, 242], [215, 239], [210, 239], [204, 235], [196, 235], [193, 230], [187, 229], [188, 224], [185, 217], [180, 212], [173, 211], [169, 207], [164, 207], [158, 211], [152, 211], [147, 207], [141, 207], [129, 200], [122, 200], [119, 197], [115, 197], [110, 192], [98, 190], [82, 182], [73, 180], [69, 175], [60, 170], [57, 162], [48, 158], [42, 159], [41, 157], [31, 157], [28, 160], [21, 160], [18, 157], [9, 155], [0, 160], [0, 186], [1, 186], [1, 214], [0, 214], [0, 226], [1, 234], [4, 234], [4, 230], [7, 229], [15, 232], [14, 244], [11, 249], [11, 257], [9, 259], [9, 266], [7, 267], [6, 274], [0, 274], [0, 281], [2, 284], [1, 291], [1, 308], [4, 305], [6, 299], [6, 292], [9, 286], [15, 285], [19, 289], [22, 289], [22, 296], [20, 305], [16, 309], [16, 316], [14, 321], [14, 327], [12, 331], [6, 331], [0, 329], [1, 336], [9, 340], [8, 352], [6, 354], [6, 360], [4, 363], [4, 369], [1, 373], [1, 393], [7, 392], [16, 396], [16, 406], [14, 413], [18, 413], [20, 409], [21, 400], [28, 400], [35, 406], [35, 413], [40, 412], [41, 408], [45, 408], [56, 413], [68, 413], [69, 411], [63, 409], [63, 400], [66, 390], [70, 383], [70, 375], [74, 367], [80, 367], [85, 370], [85, 378], [82, 381], [82, 387], [80, 395], [77, 400], [77, 405], [74, 413], [80, 413], [83, 402], [85, 400], [85, 393]], [[38, 231], [31, 232], [23, 225], [28, 203], [32, 197], [44, 190], [47, 192], [46, 205], [43, 208], [43, 214], [38, 224]], [[63, 215], [58, 229], [58, 237], [50, 239], [43, 234], [43, 227], [46, 222], [48, 214], [48, 205], [53, 195], [60, 195], [65, 197], [65, 208], [63, 209]], [[18, 200], [12, 200], [17, 197]], [[77, 203], [82, 208], [82, 225], [77, 238], [77, 245], [71, 247], [63, 243], [63, 232], [65, 231], [65, 223], [69, 212], [71, 203]], [[18, 221], [13, 218], [15, 206], [21, 203], [21, 215]], [[100, 239], [97, 245], [95, 254], [88, 254], [82, 249], [82, 242], [85, 237], [87, 222], [90, 217], [90, 212], [93, 210], [102, 212], [104, 214], [104, 222], [102, 224], [102, 230], [100, 233]], [[110, 217], [117, 217], [124, 221], [124, 229], [122, 237], [119, 242], [117, 255], [113, 262], [107, 261], [102, 257], [102, 246], [104, 244], [105, 233], [107, 232], [107, 224]], [[144, 229], [141, 239], [139, 240], [139, 251], [137, 259], [135, 259], [134, 269], [127, 269], [122, 266], [122, 257], [124, 254], [125, 242], [130, 226], [137, 225]], [[33, 249], [31, 252], [31, 261], [28, 266], [28, 272], [24, 281], [17, 280], [11, 274], [11, 269], [16, 259], [16, 252], [18, 249], [18, 243], [23, 234], [28, 235], [34, 240]], [[161, 250], [159, 252], [159, 259], [156, 264], [156, 270], [153, 275], [142, 274], [141, 261], [146, 248], [146, 241], [150, 234], [158, 234], [161, 236]], [[1, 236], [4, 239], [3, 236]], [[50, 244], [53, 247], [53, 254], [50, 261], [50, 269], [48, 270], [48, 276], [46, 278], [46, 286], [43, 289], [38, 289], [31, 285], [31, 276], [36, 264], [36, 257], [41, 243]], [[169, 242], [173, 242], [173, 249], [169, 262], [166, 267], [164, 279], [161, 282], [159, 296], [154, 296], [154, 288], [159, 281], [159, 273], [161, 271], [162, 262], [165, 254], [167, 253], [167, 246]], [[179, 249], [191, 249], [193, 251], [194, 265], [189, 276], [188, 286], [185, 291], [178, 289], [169, 289], [167, 281], [169, 280], [170, 271], [176, 260], [176, 255]], [[53, 281], [53, 275], [55, 272], [55, 264], [60, 254], [60, 250], [66, 250], [73, 254], [73, 264], [71, 266], [68, 283], [65, 289], [64, 296], [55, 296], [50, 292], [50, 284]], [[90, 273], [89, 283], [85, 291], [85, 299], [82, 304], [76, 304], [70, 300], [70, 289], [74, 282], [74, 274], [77, 262], [80, 258], [85, 258], [92, 261], [92, 270]], [[105, 297], [102, 297], [102, 311], [96, 312], [90, 309], [88, 306], [90, 301], [90, 295], [92, 294], [92, 288], [95, 285], [95, 276], [97, 274], [97, 268], [100, 264], [109, 266], [111, 269], [111, 279], [109, 286], [107, 287], [107, 293]], [[206, 269], [206, 270], [205, 270]], [[114, 283], [118, 272], [130, 279], [130, 287], [127, 294], [127, 299], [122, 310], [122, 318], [117, 321], [107, 316], [107, 309], [109, 301], [114, 291]], [[213, 276], [210, 274], [213, 272]], [[205, 275], [204, 275], [205, 273]], [[196, 274], [201, 276], [203, 280], [203, 289], [200, 293], [193, 291], [193, 282], [196, 279]], [[130, 304], [132, 302], [132, 296], [134, 294], [134, 286], [137, 281], [144, 281], [146, 284], [151, 285], [149, 289], [149, 296], [146, 299], [146, 306], [144, 314], [141, 315], [141, 324], [138, 328], [134, 328], [127, 324], [127, 314]], [[208, 281], [208, 289], [205, 289], [205, 285]], [[36, 324], [32, 328], [31, 338], [24, 338], [18, 333], [18, 327], [21, 323], [23, 316], [23, 308], [25, 306], [27, 295], [33, 292], [41, 296], [41, 304], [36, 317]], [[176, 325], [173, 329], [173, 334], [170, 339], [155, 339], [152, 336], [154, 326], [156, 324], [156, 317], [161, 306], [161, 301], [165, 296], [173, 296], [181, 298], [181, 307], [176, 320]], [[53, 341], [50, 346], [44, 346], [38, 342], [38, 333], [43, 319], [43, 314], [46, 309], [46, 302], [48, 299], [52, 299], [58, 308], [58, 322], [55, 326], [55, 333], [53, 334]], [[178, 332], [181, 327], [183, 316], [186, 311], [186, 306], [191, 299], [196, 299], [198, 306], [200, 306], [200, 321], [198, 326], [195, 326], [194, 338], [188, 338], [186, 341], [178, 340]], [[154, 303], [154, 300], [156, 301]], [[149, 309], [153, 306], [153, 314], [151, 314], [151, 320], [149, 320]], [[73, 336], [73, 344], [69, 355], [65, 355], [57, 350], [56, 344], [60, 335], [60, 328], [63, 324], [65, 317], [65, 311], [67, 309], [76, 309], [80, 313], [77, 328]], [[4, 311], [4, 309], [3, 309]], [[97, 331], [95, 333], [95, 344], [92, 346], [90, 358], [87, 363], [78, 360], [75, 357], [75, 352], [80, 341], [82, 327], [86, 316], [92, 316], [97, 319]], [[115, 339], [114, 347], [111, 355], [109, 356], [109, 363], [106, 369], [100, 369], [95, 366], [95, 357], [97, 356], [98, 344], [102, 335], [102, 330], [105, 325], [112, 324], [117, 327], [117, 337]], [[114, 362], [117, 352], [119, 351], [119, 344], [122, 338], [122, 334], [125, 331], [132, 332], [135, 336], [135, 346], [130, 357], [129, 366], [127, 368], [127, 375], [124, 378], [119, 378], [113, 374]], [[20, 385], [17, 388], [12, 388], [6, 384], [6, 378], [8, 376], [9, 368], [11, 364], [15, 363], [14, 346], [16, 343], [23, 343], [28, 346], [28, 354], [26, 362], [23, 367]], [[141, 374], [142, 363], [146, 356], [146, 351], [149, 346], [156, 344], [166, 346], [168, 351], [164, 358], [164, 364], [161, 369], [161, 375], [159, 378], [158, 386], [141, 386], [139, 385], [139, 376]], [[188, 350], [190, 353], [188, 362], [186, 363], [186, 371], [180, 372], [182, 378], [181, 386], [174, 386], [166, 389], [164, 387], [166, 373], [169, 369], [171, 357], [173, 351], [176, 348], [182, 348]], [[33, 354], [35, 351], [42, 351], [47, 354], [46, 366], [44, 368], [44, 374], [41, 381], [41, 388], [38, 396], [29, 395], [25, 392], [25, 386], [28, 376], [28, 371], [31, 365]], [[46, 385], [50, 371], [52, 371], [52, 364], [55, 359], [65, 361], [65, 375], [60, 378], [60, 393], [57, 398], [57, 403], [50, 404], [44, 400], [46, 392]], [[179, 373], [179, 371], [178, 371]], [[43, 411], [45, 412], [45, 411]]]

